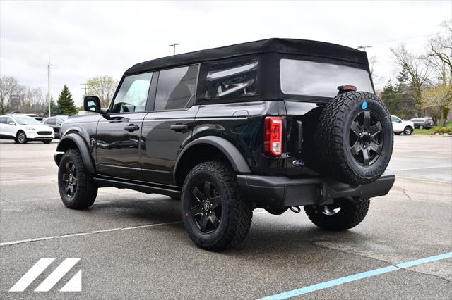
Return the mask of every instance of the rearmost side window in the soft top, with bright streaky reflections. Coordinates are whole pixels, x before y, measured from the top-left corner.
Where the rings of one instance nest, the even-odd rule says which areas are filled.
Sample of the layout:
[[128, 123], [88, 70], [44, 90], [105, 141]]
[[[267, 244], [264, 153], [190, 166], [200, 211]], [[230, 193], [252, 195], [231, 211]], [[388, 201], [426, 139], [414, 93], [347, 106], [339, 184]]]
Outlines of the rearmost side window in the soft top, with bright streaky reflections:
[[257, 58], [213, 63], [206, 75], [206, 100], [256, 96], [258, 81]]

